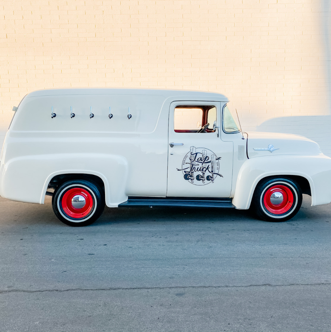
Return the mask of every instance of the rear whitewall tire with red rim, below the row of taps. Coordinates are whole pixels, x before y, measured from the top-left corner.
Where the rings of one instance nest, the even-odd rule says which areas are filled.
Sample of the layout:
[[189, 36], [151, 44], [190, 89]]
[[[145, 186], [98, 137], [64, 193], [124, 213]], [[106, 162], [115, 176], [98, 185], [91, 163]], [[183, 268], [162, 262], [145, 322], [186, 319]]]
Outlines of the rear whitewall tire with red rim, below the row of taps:
[[98, 185], [89, 181], [67, 181], [55, 190], [52, 207], [55, 215], [66, 225], [90, 225], [103, 212], [104, 192]]

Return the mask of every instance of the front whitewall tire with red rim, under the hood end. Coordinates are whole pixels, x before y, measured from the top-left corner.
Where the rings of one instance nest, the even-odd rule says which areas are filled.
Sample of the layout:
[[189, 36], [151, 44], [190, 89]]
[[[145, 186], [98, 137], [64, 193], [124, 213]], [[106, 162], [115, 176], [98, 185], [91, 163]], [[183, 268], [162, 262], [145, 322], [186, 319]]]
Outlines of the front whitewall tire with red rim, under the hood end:
[[295, 181], [280, 177], [269, 178], [256, 186], [250, 211], [258, 219], [279, 222], [294, 217], [301, 204], [302, 191]]

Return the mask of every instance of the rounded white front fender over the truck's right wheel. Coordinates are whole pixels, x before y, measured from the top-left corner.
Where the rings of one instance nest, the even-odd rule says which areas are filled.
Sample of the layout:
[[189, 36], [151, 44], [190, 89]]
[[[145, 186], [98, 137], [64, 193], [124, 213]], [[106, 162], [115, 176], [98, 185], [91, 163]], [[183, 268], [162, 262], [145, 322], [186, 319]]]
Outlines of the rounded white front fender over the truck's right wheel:
[[311, 206], [331, 202], [331, 158], [323, 155], [276, 155], [248, 159], [242, 165], [232, 200], [237, 209], [248, 209], [256, 185], [267, 176], [298, 175], [306, 178]]

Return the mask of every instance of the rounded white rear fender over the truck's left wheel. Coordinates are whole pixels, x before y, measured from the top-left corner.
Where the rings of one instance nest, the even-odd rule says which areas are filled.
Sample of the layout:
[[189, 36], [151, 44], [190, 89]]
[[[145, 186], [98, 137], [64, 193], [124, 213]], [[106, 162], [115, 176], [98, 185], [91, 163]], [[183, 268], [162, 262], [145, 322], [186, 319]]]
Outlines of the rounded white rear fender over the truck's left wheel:
[[1, 165], [0, 195], [13, 201], [44, 204], [50, 180], [59, 174], [92, 174], [105, 186], [108, 207], [128, 199], [128, 162], [123, 156], [100, 153], [29, 155]]

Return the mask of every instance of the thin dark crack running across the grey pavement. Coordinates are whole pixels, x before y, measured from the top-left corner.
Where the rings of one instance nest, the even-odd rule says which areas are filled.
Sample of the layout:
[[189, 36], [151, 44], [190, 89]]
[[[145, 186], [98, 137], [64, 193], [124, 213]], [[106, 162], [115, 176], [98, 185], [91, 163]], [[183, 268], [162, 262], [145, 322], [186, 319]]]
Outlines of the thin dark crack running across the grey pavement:
[[271, 285], [271, 284], [258, 284], [258, 285], [242, 285], [242, 286], [169, 286], [169, 287], [112, 287], [112, 288], [70, 288], [65, 290], [0, 290], [3, 293], [42, 293], [42, 292], [66, 292], [66, 291], [87, 291], [87, 290], [163, 290], [163, 289], [188, 289], [188, 288], [248, 288], [248, 287], [286, 287], [286, 286], [324, 286], [331, 285], [331, 283], [316, 283], [316, 284], [284, 284], [284, 285]]

